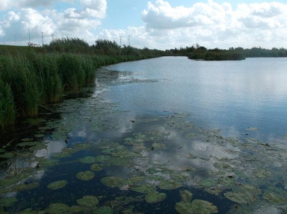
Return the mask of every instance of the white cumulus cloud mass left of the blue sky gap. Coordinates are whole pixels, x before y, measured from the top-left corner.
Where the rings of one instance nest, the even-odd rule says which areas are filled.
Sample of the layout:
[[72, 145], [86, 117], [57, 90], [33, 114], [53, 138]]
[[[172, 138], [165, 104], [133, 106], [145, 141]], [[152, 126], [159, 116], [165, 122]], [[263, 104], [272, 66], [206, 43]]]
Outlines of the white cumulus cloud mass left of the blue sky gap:
[[[33, 4], [51, 4], [53, 0], [20, 0], [18, 6]], [[67, 0], [65, 0], [67, 1]], [[70, 0], [68, 0], [71, 2]], [[12, 0], [4, 0], [4, 6]], [[27, 44], [28, 29], [32, 43], [41, 43], [40, 34], [43, 32], [47, 42], [51, 35], [55, 37], [79, 37], [92, 42], [92, 33], [101, 24], [106, 15], [106, 0], [81, 0], [80, 9], [67, 8], [62, 11], [55, 9], [38, 10], [35, 8], [22, 8], [8, 11], [3, 21], [0, 21], [0, 39], [14, 43], [14, 37], [19, 44]], [[2, 8], [4, 7], [2, 6]]]

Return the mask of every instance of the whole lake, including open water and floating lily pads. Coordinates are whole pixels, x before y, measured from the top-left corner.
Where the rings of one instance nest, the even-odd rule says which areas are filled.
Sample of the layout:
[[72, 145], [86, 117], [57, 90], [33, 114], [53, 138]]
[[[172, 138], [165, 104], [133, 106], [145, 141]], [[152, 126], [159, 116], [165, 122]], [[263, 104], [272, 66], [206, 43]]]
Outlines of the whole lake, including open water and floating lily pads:
[[[1, 141], [7, 214], [287, 212], [287, 61], [103, 67]], [[4, 145], [7, 143], [1, 142]]]

